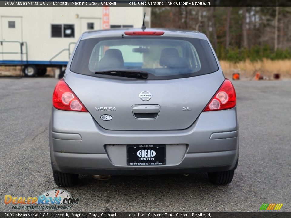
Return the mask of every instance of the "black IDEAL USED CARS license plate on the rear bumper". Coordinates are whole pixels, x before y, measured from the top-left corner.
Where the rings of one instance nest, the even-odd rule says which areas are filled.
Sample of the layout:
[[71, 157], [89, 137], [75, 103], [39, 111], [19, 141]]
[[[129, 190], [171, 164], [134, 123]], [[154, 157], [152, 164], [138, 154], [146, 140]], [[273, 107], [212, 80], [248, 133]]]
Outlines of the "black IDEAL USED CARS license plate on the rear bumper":
[[127, 165], [166, 164], [166, 145], [127, 145]]

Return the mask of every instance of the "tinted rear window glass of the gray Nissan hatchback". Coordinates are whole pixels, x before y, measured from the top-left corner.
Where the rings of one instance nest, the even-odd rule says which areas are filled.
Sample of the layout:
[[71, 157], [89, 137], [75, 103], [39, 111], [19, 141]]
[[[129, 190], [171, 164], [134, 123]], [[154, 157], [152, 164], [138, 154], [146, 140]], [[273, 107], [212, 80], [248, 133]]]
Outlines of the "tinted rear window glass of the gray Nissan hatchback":
[[127, 69], [161, 80], [209, 74], [218, 65], [206, 40], [138, 36], [82, 40], [70, 67], [75, 73], [107, 78], [112, 76], [95, 72]]

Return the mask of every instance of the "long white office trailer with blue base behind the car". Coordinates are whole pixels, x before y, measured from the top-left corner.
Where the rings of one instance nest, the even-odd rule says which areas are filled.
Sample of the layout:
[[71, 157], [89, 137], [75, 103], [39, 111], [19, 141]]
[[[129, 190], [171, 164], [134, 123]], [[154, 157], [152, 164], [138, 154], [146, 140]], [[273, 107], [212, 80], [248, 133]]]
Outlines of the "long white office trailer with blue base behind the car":
[[2, 7], [0, 65], [23, 66], [26, 76], [68, 64], [79, 36], [107, 28], [139, 28], [148, 7]]

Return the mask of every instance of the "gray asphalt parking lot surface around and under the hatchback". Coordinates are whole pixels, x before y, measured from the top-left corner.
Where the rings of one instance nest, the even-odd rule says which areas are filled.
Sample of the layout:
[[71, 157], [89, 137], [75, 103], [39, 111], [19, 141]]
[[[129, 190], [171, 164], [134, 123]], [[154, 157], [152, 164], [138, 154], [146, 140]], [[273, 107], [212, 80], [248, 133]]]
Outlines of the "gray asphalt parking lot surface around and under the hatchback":
[[[49, 158], [53, 78], [0, 79], [0, 211], [4, 195], [34, 197], [57, 188]], [[232, 183], [214, 186], [206, 173], [189, 176], [81, 176], [66, 188], [70, 211], [259, 211], [283, 203], [291, 211], [291, 80], [234, 81], [240, 130]], [[24, 211], [24, 210], [22, 210]], [[25, 210], [26, 211], [26, 210]]]

